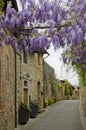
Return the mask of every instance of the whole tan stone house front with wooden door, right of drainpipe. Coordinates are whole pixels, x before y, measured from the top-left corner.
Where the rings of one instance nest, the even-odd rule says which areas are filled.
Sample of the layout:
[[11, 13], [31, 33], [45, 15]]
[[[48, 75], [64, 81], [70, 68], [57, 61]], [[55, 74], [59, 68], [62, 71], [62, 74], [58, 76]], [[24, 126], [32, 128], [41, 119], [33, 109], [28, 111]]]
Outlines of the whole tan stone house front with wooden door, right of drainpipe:
[[[43, 109], [43, 63], [40, 54], [40, 64], [38, 63], [38, 53], [27, 54], [27, 63], [24, 63], [23, 50], [17, 54], [17, 124], [19, 122], [18, 110], [21, 102], [30, 105], [30, 101], [37, 101], [40, 109]], [[40, 83], [40, 86], [38, 85]], [[40, 88], [38, 88], [40, 87]], [[38, 89], [40, 91], [38, 91]], [[25, 96], [26, 95], [26, 96]], [[39, 97], [38, 97], [39, 95]]]

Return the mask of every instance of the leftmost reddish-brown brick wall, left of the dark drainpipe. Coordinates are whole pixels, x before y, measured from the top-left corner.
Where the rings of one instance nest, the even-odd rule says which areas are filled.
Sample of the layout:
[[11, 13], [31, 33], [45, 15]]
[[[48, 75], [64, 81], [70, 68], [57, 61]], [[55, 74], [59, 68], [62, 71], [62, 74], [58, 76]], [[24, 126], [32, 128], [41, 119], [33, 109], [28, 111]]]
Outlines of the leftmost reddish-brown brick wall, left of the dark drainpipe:
[[[8, 58], [8, 80], [6, 79], [6, 58]], [[0, 48], [0, 130], [14, 128], [14, 53], [8, 47]]]

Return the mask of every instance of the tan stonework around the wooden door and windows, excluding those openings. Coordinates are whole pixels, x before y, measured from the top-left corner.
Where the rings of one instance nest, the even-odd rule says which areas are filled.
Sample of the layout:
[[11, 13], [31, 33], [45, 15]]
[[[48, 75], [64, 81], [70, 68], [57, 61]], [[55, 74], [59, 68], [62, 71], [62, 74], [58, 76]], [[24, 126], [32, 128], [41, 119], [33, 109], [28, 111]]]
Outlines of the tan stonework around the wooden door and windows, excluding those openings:
[[[18, 82], [21, 82], [21, 85], [18, 85], [18, 97], [22, 97], [24, 102], [24, 94], [22, 93], [24, 88], [28, 90], [28, 105], [29, 105], [29, 97], [32, 101], [39, 101], [41, 107], [43, 106], [43, 99], [41, 96], [41, 92], [43, 91], [43, 62], [42, 62], [42, 54], [40, 54], [40, 64], [38, 63], [38, 53], [34, 55], [27, 56], [27, 64], [23, 62], [23, 51], [21, 51], [21, 61], [19, 56], [17, 56], [17, 64], [18, 68], [21, 66], [20, 72], [18, 74]], [[21, 64], [21, 65], [20, 65]], [[19, 79], [21, 77], [21, 79]], [[24, 81], [27, 81], [27, 86], [24, 86]], [[38, 82], [40, 82], [40, 99], [38, 99]], [[20, 86], [20, 87], [19, 87]], [[19, 96], [21, 94], [21, 96]]]

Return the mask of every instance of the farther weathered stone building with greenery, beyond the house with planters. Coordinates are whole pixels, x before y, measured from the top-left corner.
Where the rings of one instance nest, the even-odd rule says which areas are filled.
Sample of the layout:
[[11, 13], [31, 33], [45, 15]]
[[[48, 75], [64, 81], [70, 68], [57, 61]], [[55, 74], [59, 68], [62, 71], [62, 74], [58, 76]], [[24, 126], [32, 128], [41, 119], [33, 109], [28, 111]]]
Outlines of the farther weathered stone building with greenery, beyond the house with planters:
[[[62, 84], [58, 87], [58, 84]], [[65, 86], [55, 76], [54, 69], [44, 61], [44, 107], [48, 100], [56, 102], [65, 99]]]

